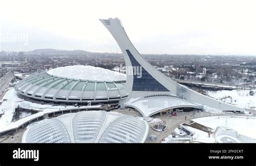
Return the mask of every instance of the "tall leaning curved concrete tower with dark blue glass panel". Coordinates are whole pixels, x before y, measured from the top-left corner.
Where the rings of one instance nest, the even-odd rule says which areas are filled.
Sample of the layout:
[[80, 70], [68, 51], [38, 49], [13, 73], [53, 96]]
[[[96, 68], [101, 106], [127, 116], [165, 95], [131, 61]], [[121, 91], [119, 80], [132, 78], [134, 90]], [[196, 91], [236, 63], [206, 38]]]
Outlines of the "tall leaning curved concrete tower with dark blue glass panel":
[[184, 100], [189, 100], [194, 103], [223, 111], [244, 111], [244, 109], [240, 107], [201, 95], [165, 76], [139, 54], [137, 49], [132, 45], [132, 42], [128, 38], [124, 27], [118, 18], [99, 20], [112, 34], [124, 55], [127, 75], [126, 90], [129, 92], [129, 96], [122, 101], [123, 103], [126, 103], [133, 98], [165, 94], [176, 95]]

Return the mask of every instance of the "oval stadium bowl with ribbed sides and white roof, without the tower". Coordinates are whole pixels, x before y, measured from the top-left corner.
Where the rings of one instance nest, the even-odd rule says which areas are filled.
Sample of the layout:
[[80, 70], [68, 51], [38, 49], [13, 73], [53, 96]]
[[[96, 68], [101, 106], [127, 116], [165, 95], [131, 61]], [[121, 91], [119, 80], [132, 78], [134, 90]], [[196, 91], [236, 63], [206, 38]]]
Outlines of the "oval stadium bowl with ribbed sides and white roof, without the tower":
[[19, 95], [56, 104], [117, 104], [128, 93], [126, 75], [99, 67], [66, 66], [24, 78]]

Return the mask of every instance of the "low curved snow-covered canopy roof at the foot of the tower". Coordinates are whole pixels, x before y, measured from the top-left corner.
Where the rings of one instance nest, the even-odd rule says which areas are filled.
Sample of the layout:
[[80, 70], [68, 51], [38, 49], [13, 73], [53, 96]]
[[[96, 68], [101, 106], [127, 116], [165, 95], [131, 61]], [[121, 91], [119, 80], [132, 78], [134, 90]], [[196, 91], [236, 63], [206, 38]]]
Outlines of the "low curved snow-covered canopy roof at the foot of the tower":
[[203, 106], [188, 100], [169, 96], [131, 98], [128, 102], [125, 103], [125, 106], [130, 106], [138, 110], [143, 117], [150, 117], [161, 111], [173, 109], [176, 107], [195, 107], [198, 109], [203, 108]]

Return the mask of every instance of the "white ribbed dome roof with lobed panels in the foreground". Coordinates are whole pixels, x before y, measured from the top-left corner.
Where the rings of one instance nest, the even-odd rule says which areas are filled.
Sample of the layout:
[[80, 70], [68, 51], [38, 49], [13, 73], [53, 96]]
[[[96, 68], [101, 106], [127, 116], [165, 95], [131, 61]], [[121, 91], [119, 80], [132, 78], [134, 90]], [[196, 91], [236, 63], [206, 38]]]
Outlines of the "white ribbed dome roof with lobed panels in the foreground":
[[143, 143], [149, 133], [145, 120], [118, 112], [82, 111], [29, 125], [26, 143]]

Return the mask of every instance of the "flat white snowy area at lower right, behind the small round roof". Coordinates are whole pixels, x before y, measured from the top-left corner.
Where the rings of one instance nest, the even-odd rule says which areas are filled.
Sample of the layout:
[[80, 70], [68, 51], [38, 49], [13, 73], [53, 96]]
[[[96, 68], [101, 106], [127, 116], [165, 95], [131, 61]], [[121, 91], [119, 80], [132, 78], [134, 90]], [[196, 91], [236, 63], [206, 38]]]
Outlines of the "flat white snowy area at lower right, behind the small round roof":
[[214, 116], [192, 119], [198, 124], [216, 129], [218, 126], [226, 126], [238, 131], [239, 134], [256, 139], [256, 118], [247, 116]]

